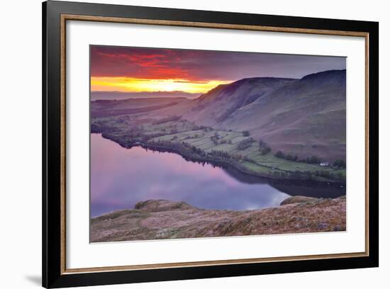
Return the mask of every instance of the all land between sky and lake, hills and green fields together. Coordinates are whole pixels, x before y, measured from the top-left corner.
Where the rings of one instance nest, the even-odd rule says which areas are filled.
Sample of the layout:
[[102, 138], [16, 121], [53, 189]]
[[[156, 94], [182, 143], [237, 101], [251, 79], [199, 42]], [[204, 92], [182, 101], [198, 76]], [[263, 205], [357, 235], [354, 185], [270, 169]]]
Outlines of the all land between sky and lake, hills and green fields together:
[[91, 132], [245, 174], [345, 183], [333, 165], [345, 164], [345, 70], [242, 79], [191, 100], [91, 101]]

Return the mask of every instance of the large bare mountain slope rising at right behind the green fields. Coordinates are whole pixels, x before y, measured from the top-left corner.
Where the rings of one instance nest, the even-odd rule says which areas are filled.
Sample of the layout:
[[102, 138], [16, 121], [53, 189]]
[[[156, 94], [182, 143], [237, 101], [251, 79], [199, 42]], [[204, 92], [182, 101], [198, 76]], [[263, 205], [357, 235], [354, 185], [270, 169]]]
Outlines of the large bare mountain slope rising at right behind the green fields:
[[[260, 85], [246, 80], [239, 88], [240, 81], [236, 81], [205, 95], [192, 109], [196, 115], [190, 114], [190, 119], [218, 128], [249, 130], [273, 152], [316, 155], [328, 162], [345, 159], [345, 74], [345, 70], [331, 70], [296, 81], [275, 79]], [[257, 98], [247, 101], [254, 94]], [[207, 98], [211, 99], [207, 102]], [[240, 101], [231, 104], [236, 98]], [[202, 107], [202, 103], [207, 105]], [[237, 103], [240, 105], [226, 114]]]

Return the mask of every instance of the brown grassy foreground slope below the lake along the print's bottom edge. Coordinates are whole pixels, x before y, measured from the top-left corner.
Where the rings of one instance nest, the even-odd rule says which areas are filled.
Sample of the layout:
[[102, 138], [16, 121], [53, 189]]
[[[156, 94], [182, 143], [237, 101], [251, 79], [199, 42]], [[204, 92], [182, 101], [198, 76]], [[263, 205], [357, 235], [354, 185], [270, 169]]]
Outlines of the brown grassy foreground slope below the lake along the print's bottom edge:
[[91, 219], [91, 242], [225, 237], [345, 230], [345, 197], [294, 197], [262, 210], [203, 210], [184, 202], [146, 200], [133, 210]]

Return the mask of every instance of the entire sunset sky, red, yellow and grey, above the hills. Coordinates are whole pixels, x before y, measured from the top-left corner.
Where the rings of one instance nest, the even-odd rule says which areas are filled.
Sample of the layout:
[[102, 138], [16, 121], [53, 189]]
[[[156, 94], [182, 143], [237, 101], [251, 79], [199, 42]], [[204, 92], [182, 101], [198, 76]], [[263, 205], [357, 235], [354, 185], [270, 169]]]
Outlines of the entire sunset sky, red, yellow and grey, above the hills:
[[345, 57], [91, 45], [91, 91], [202, 94], [248, 77], [345, 69]]

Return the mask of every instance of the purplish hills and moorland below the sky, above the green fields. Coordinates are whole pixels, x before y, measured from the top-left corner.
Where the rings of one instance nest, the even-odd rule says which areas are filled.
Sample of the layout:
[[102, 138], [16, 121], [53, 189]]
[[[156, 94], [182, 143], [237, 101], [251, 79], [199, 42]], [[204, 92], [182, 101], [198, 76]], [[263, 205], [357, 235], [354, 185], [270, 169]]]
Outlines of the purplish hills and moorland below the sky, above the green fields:
[[[171, 123], [164, 133], [173, 133], [178, 125], [186, 129], [195, 125], [238, 134], [245, 132], [255, 142], [265, 142], [272, 149], [270, 154], [281, 151], [297, 159], [316, 156], [329, 163], [346, 158], [345, 69], [308, 74], [301, 79], [240, 79], [216, 86], [192, 100], [92, 101], [91, 113], [128, 115], [129, 124], [167, 122], [179, 117], [181, 120]], [[194, 125], [185, 125], [184, 120]]]

